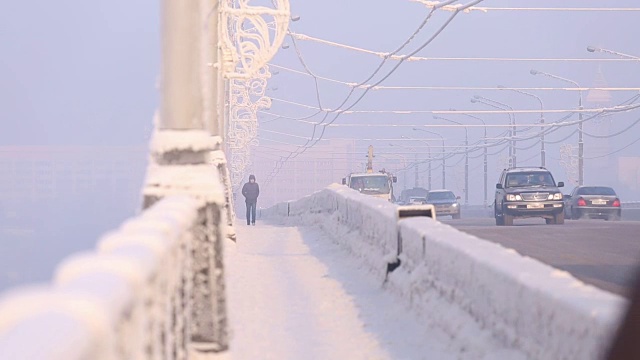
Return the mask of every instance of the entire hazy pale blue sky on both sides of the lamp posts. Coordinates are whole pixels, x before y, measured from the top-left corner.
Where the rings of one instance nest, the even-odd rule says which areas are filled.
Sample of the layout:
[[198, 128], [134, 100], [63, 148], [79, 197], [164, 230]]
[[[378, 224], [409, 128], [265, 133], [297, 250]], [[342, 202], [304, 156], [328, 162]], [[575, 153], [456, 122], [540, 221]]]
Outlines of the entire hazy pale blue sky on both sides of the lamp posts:
[[[558, 1], [498, 1], [487, 0], [481, 6], [557, 7]], [[564, 7], [632, 7], [635, 1], [563, 1]], [[292, 24], [292, 31], [338, 43], [380, 52], [389, 52], [402, 44], [417, 28], [428, 10], [410, 1], [371, 0], [291, 0], [292, 12], [300, 21]], [[61, 0], [5, 2], [0, 12], [0, 145], [73, 147], [74, 156], [88, 147], [128, 147], [138, 149], [127, 158], [131, 171], [126, 181], [115, 188], [101, 191], [94, 186], [84, 193], [58, 196], [47, 200], [2, 202], [3, 232], [0, 233], [0, 290], [7, 286], [47, 280], [54, 265], [66, 254], [92, 247], [100, 234], [114, 228], [137, 207], [137, 191], [142, 184], [151, 119], [158, 104], [156, 89], [160, 64], [159, 2], [123, 0]], [[600, 46], [623, 53], [639, 55], [640, 32], [638, 12], [550, 12], [550, 11], [489, 11], [460, 14], [440, 36], [417, 56], [428, 57], [509, 57], [509, 58], [584, 58], [615, 59], [605, 54], [586, 51], [588, 45]], [[437, 13], [409, 47], [406, 54], [429, 38], [439, 28], [448, 12]], [[272, 63], [304, 71], [290, 39], [289, 48], [281, 50]], [[357, 83], [366, 79], [381, 59], [353, 50], [345, 50], [308, 41], [297, 41], [300, 54], [318, 76]], [[389, 61], [380, 75], [386, 74], [395, 61]], [[428, 61], [405, 62], [383, 85], [388, 86], [478, 86], [495, 87], [570, 87], [543, 76], [532, 76], [529, 70], [563, 76], [583, 87], [594, 85], [601, 70], [612, 87], [638, 86], [638, 62], [495, 62], [495, 61]], [[271, 69], [274, 71], [274, 69]], [[373, 82], [371, 81], [371, 82]], [[370, 82], [370, 83], [371, 83]], [[312, 78], [279, 71], [270, 80], [268, 95], [274, 98], [317, 106], [317, 93]], [[274, 90], [273, 88], [277, 88]], [[322, 105], [337, 107], [349, 88], [320, 81]], [[612, 92], [609, 105], [621, 103], [638, 91]], [[357, 93], [359, 94], [359, 92]], [[472, 104], [473, 95], [482, 95], [505, 102], [516, 109], [537, 109], [535, 100], [505, 91], [434, 91], [434, 90], [377, 90], [371, 91], [353, 110], [458, 110], [490, 108]], [[577, 93], [569, 91], [538, 91], [546, 109], [569, 109], [577, 106]], [[587, 94], [585, 94], [586, 97]], [[587, 104], [585, 107], [596, 107]], [[274, 100], [272, 113], [289, 117], [313, 114], [312, 109]], [[548, 114], [548, 122], [561, 115]], [[615, 132], [640, 117], [640, 112], [617, 114], [611, 118], [610, 129]], [[311, 136], [309, 125], [278, 120], [272, 116], [260, 118], [260, 143], [269, 140], [292, 145], [304, 144]], [[450, 118], [464, 121], [461, 116]], [[485, 116], [487, 123], [504, 124], [506, 115]], [[538, 116], [518, 115], [518, 122], [534, 123]], [[574, 117], [575, 119], [576, 117]], [[319, 121], [320, 116], [313, 118]], [[333, 119], [333, 116], [328, 118]], [[429, 124], [437, 122], [430, 114], [345, 114], [335, 124]], [[440, 122], [442, 123], [442, 122]], [[474, 123], [474, 122], [467, 122]], [[476, 122], [477, 123], [477, 122]], [[585, 130], [597, 131], [585, 125]], [[277, 131], [287, 135], [277, 135]], [[447, 142], [461, 144], [463, 130], [437, 130]], [[569, 134], [564, 129], [548, 141], [559, 140]], [[491, 130], [496, 135], [498, 130]], [[638, 138], [637, 128], [616, 137], [608, 146], [618, 150]], [[329, 128], [325, 138], [394, 138], [429, 137], [409, 128], [335, 127]], [[481, 130], [469, 130], [472, 141], [478, 141]], [[585, 137], [586, 155], [591, 139]], [[397, 149], [390, 141], [373, 143], [377, 153], [392, 156]], [[567, 142], [576, 143], [576, 136]], [[358, 142], [363, 155], [372, 142]], [[280, 144], [282, 145], [282, 144]], [[526, 146], [523, 144], [522, 146]], [[19, 149], [19, 148], [13, 148]], [[84, 150], [83, 150], [84, 149]], [[140, 150], [142, 149], [142, 150]], [[559, 165], [559, 144], [548, 146], [548, 167], [563, 181], [564, 170]], [[495, 150], [495, 149], [494, 149]], [[257, 152], [267, 151], [258, 147]], [[607, 158], [612, 167], [606, 171], [587, 164], [585, 178], [616, 186], [625, 199], [640, 200], [634, 189], [618, 182], [614, 163], [617, 156], [638, 156], [640, 143]], [[519, 159], [533, 159], [536, 165], [536, 146], [520, 151]], [[93, 154], [93, 153], [92, 153]], [[478, 153], [476, 153], [477, 155]], [[89, 160], [105, 161], [113, 157], [105, 151], [89, 156]], [[401, 156], [408, 156], [407, 154]], [[411, 155], [411, 158], [413, 155]], [[460, 164], [461, 157], [450, 164]], [[497, 155], [490, 160], [489, 183], [497, 179]], [[78, 160], [80, 161], [80, 160]], [[83, 160], [84, 161], [84, 160]], [[118, 160], [122, 163], [124, 160]], [[473, 187], [471, 203], [481, 201], [481, 159], [471, 164]], [[522, 164], [524, 165], [524, 164]], [[253, 171], [253, 169], [250, 169]], [[600, 170], [600, 171], [599, 171]], [[4, 170], [3, 170], [4, 171]], [[448, 170], [449, 171], [449, 170]], [[460, 166], [452, 168], [449, 176], [452, 188], [460, 192]], [[346, 174], [345, 174], [346, 175]], [[399, 174], [401, 177], [404, 173]], [[408, 176], [413, 177], [410, 172]], [[434, 170], [434, 183], [440, 180]], [[62, 178], [64, 180], [64, 178]], [[259, 177], [259, 182], [265, 180]], [[284, 180], [279, 180], [284, 181]], [[339, 181], [339, 179], [335, 179]], [[402, 179], [400, 180], [402, 183]], [[263, 188], [263, 191], [268, 191]], [[491, 189], [491, 188], [490, 188]], [[568, 190], [567, 190], [568, 191]], [[490, 196], [492, 193], [490, 193]], [[2, 201], [2, 200], [0, 200]]]

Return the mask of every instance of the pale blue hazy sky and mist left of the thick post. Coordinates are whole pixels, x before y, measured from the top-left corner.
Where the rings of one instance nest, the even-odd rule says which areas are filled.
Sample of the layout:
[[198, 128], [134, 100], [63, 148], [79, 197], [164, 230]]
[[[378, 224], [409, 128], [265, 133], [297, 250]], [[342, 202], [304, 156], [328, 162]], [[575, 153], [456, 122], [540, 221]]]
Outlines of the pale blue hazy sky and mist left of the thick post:
[[[94, 184], [68, 196], [0, 200], [0, 290], [48, 280], [63, 256], [93, 247], [134, 213], [158, 103], [159, 46], [156, 1], [2, 2], [3, 149], [64, 146], [80, 167], [123, 157], [110, 148], [141, 150], [118, 160], [131, 171], [115, 189]], [[15, 156], [22, 148], [13, 149]]]

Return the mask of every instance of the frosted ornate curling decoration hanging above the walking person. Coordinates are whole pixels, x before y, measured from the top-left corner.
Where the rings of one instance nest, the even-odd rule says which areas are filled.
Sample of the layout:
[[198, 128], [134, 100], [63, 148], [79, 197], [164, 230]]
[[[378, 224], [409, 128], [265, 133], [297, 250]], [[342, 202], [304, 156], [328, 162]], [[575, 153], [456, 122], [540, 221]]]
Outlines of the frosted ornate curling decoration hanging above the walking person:
[[250, 164], [251, 147], [258, 144], [258, 111], [271, 107], [265, 96], [271, 77], [267, 63], [281, 48], [289, 22], [300, 19], [291, 16], [289, 0], [274, 0], [272, 7], [249, 2], [226, 0], [221, 5], [221, 70], [228, 83], [224, 134], [235, 188]]

